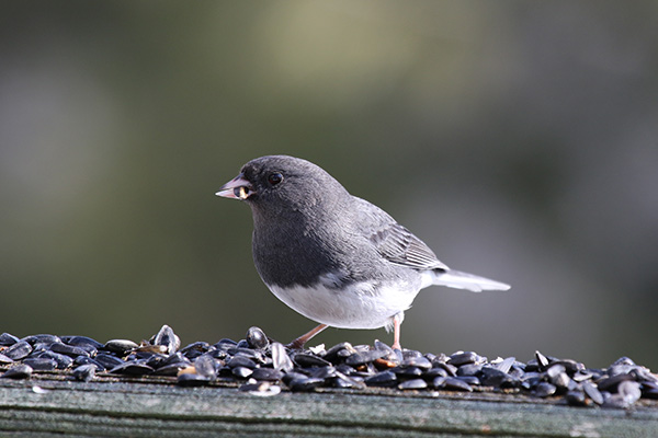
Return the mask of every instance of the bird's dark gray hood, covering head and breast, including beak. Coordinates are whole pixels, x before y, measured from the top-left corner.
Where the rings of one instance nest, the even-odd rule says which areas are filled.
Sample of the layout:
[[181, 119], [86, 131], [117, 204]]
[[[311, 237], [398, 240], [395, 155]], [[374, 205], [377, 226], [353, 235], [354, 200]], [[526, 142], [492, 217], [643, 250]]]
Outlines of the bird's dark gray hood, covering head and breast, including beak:
[[349, 240], [354, 198], [317, 165], [261, 157], [217, 195], [251, 207], [253, 261], [265, 284], [309, 286], [322, 274], [348, 270], [337, 247]]

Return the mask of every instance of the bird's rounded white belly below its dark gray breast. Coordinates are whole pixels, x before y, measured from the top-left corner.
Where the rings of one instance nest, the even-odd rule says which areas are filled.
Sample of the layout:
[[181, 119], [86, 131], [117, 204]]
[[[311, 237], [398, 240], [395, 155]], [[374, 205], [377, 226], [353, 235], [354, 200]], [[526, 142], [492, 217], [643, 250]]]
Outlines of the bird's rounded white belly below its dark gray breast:
[[339, 328], [390, 325], [393, 316], [409, 309], [418, 295], [409, 285], [375, 288], [370, 283], [356, 283], [342, 289], [318, 283], [311, 287], [270, 286], [270, 290], [304, 316]]

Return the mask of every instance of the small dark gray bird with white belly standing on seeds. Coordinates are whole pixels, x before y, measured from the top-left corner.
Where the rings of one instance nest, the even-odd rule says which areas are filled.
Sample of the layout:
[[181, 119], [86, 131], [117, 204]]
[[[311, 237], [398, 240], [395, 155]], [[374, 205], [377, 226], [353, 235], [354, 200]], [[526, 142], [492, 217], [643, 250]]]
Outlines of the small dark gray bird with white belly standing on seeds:
[[293, 341], [302, 348], [327, 328], [394, 328], [400, 348], [405, 310], [428, 286], [507, 290], [453, 270], [386, 211], [298, 158], [252, 160], [218, 196], [245, 200], [253, 216], [253, 262], [272, 293], [320, 323]]

